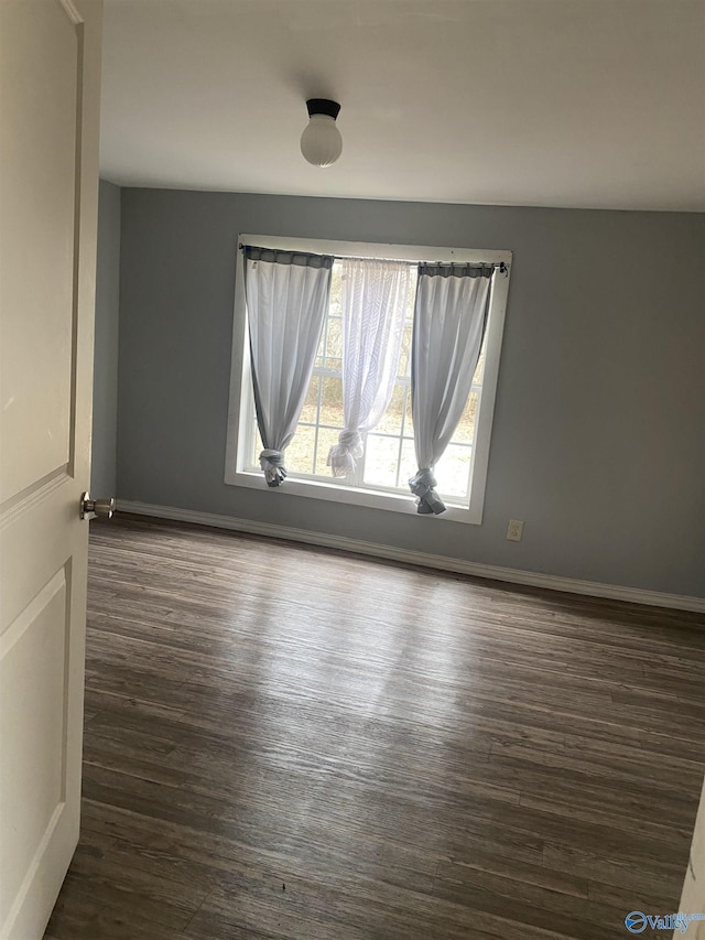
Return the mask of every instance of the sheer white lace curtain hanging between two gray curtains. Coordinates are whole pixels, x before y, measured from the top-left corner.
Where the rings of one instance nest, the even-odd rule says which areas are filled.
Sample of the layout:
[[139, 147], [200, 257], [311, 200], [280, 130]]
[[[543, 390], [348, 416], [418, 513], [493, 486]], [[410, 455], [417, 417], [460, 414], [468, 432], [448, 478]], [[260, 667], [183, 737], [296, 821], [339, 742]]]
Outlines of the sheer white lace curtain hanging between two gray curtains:
[[390, 402], [399, 370], [413, 268], [405, 261], [343, 261], [343, 412], [345, 429], [328, 452], [333, 475], [348, 476], [362, 456], [362, 434]]

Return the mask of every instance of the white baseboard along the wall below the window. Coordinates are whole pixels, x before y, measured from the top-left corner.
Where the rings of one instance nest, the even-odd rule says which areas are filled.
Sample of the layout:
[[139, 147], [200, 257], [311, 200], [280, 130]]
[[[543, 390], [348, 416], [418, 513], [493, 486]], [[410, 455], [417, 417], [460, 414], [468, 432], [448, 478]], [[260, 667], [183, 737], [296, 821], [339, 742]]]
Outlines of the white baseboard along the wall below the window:
[[648, 604], [653, 607], [672, 607], [677, 611], [694, 611], [705, 614], [705, 598], [688, 597], [681, 594], [662, 594], [658, 591], [642, 591], [638, 587], [621, 587], [617, 584], [599, 584], [595, 581], [581, 581], [575, 577], [540, 574], [534, 571], [520, 571], [513, 568], [499, 568], [479, 564], [474, 561], [447, 558], [445, 555], [398, 549], [377, 542], [364, 542], [345, 536], [328, 536], [325, 532], [310, 532], [306, 529], [292, 529], [288, 526], [273, 526], [270, 522], [254, 522], [250, 519], [237, 519], [232, 516], [218, 516], [213, 512], [196, 512], [193, 509], [176, 509], [171, 506], [155, 506], [149, 503], [118, 500], [118, 510], [133, 512], [137, 516], [152, 516], [156, 519], [173, 519], [177, 522], [194, 522], [212, 526], [216, 529], [231, 529], [252, 536], [267, 536], [292, 542], [306, 542], [330, 549], [357, 552], [358, 554], [383, 558], [391, 561], [416, 564], [421, 568], [452, 571], [474, 577], [487, 577], [491, 581], [507, 581], [510, 584], [528, 584], [532, 587], [546, 587], [551, 591], [565, 591], [570, 594], [586, 594], [590, 597], [606, 597], [611, 601], [627, 601], [631, 604]]

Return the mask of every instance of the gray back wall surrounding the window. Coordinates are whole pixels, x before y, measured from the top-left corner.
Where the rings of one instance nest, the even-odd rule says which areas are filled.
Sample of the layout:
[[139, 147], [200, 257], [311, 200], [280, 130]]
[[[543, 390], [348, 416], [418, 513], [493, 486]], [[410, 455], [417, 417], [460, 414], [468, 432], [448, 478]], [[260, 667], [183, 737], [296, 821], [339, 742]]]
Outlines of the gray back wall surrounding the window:
[[[239, 231], [514, 252], [481, 526], [224, 484]], [[703, 596], [704, 248], [696, 214], [123, 190], [118, 495]]]

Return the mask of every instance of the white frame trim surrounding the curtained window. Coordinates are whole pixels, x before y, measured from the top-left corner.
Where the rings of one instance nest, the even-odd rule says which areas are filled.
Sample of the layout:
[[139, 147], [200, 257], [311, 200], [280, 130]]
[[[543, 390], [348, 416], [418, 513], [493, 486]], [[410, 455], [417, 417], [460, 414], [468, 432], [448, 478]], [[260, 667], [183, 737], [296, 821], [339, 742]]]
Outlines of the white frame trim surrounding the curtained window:
[[[487, 485], [489, 447], [499, 377], [499, 359], [505, 329], [507, 296], [511, 274], [511, 251], [476, 250], [468, 248], [438, 248], [436, 246], [387, 245], [381, 242], [334, 241], [317, 238], [290, 238], [284, 236], [242, 234], [239, 245], [258, 245], [262, 248], [279, 248], [288, 251], [306, 251], [335, 257], [387, 258], [400, 261], [431, 261], [446, 263], [500, 263], [507, 272], [498, 272], [492, 278], [489, 314], [487, 321], [487, 341], [482, 387], [475, 424], [475, 440], [471, 451], [470, 498], [467, 505], [458, 505], [445, 499], [447, 510], [436, 517], [454, 522], [480, 525]], [[235, 279], [235, 313], [232, 324], [232, 356], [230, 367], [230, 402], [228, 408], [228, 428], [226, 440], [225, 483], [251, 489], [267, 489], [276, 498], [276, 494], [305, 496], [354, 506], [369, 506], [375, 509], [389, 509], [394, 512], [408, 512], [416, 516], [416, 500], [411, 494], [372, 490], [354, 486], [340, 486], [327, 483], [321, 477], [293, 478], [289, 476], [281, 487], [267, 486], [261, 471], [246, 469], [247, 455], [251, 449], [251, 426], [253, 421], [252, 374], [247, 329], [247, 305], [245, 300], [245, 259], [238, 249]]]

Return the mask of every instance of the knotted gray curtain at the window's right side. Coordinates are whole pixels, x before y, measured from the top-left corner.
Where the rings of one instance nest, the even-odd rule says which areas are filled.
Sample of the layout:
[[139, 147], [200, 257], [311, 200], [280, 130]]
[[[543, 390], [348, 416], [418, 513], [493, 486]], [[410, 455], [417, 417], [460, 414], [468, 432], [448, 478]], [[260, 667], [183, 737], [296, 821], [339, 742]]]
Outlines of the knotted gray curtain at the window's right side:
[[411, 361], [417, 511], [438, 515], [433, 469], [463, 414], [485, 335], [489, 264], [420, 264]]

